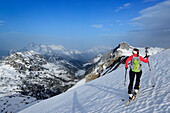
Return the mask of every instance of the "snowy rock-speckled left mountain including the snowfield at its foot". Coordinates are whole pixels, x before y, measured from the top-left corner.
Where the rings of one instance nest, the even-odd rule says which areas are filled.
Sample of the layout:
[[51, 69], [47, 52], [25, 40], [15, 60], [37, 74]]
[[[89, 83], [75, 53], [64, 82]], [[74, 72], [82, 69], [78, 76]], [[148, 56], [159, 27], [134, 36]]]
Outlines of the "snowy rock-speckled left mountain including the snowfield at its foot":
[[0, 111], [17, 112], [66, 91], [78, 81], [77, 70], [62, 58], [34, 51], [11, 54], [0, 61]]

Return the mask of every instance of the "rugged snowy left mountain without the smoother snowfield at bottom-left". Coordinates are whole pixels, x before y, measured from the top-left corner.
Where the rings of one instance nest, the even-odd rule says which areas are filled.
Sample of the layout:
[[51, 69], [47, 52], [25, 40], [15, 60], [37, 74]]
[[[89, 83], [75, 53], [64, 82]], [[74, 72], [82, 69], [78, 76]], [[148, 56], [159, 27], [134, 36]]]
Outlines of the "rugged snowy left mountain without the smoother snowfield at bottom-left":
[[17, 52], [2, 60], [0, 77], [1, 94], [21, 92], [37, 99], [60, 94], [77, 81], [70, 69], [51, 63], [34, 51]]

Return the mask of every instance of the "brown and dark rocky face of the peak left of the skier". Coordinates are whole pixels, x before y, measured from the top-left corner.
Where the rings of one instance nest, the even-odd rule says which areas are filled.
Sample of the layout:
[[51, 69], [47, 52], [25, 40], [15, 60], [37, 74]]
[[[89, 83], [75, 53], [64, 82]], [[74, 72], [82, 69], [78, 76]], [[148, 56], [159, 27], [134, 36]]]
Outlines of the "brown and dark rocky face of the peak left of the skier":
[[[122, 56], [122, 50], [130, 50], [132, 47], [126, 43], [120, 43], [115, 49], [110, 50], [108, 53], [103, 55], [101, 59], [93, 65], [90, 73], [86, 76], [86, 82], [89, 82], [93, 79], [96, 79], [100, 76], [104, 76], [106, 73], [110, 73], [116, 70], [120, 64], [124, 63], [126, 60], [126, 56]], [[103, 73], [103, 71], [106, 72]]]

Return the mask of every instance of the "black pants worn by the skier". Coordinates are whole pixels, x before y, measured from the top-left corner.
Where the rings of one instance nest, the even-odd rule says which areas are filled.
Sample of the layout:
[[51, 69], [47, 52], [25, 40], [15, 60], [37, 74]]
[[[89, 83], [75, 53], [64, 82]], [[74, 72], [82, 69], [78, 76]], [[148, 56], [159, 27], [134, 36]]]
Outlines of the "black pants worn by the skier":
[[132, 88], [133, 88], [133, 81], [134, 81], [135, 75], [136, 75], [136, 83], [135, 83], [134, 89], [139, 89], [140, 77], [142, 75], [142, 71], [140, 72], [133, 72], [132, 70], [129, 71], [129, 79], [130, 79], [129, 87], [128, 87], [129, 94], [133, 94]]

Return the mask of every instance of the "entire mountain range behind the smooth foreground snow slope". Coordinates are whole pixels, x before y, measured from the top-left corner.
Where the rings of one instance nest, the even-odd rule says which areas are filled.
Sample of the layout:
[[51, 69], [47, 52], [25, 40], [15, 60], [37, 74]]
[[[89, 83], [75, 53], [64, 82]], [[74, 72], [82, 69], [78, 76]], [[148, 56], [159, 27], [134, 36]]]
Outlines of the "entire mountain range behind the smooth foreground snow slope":
[[[85, 76], [84, 81], [87, 82], [102, 76], [106, 69], [116, 67], [116, 70], [121, 61], [131, 55], [132, 49], [132, 46], [123, 42], [114, 49], [100, 48], [83, 52], [66, 50], [63, 46], [33, 43], [21, 50], [11, 50], [10, 56], [0, 60], [1, 101], [12, 99], [18, 101], [19, 106], [23, 104], [20, 100], [24, 98], [28, 107], [39, 100], [65, 92]], [[144, 55], [145, 48], [140, 50], [141, 55]], [[162, 50], [150, 48], [149, 52], [152, 55]], [[9, 104], [9, 109], [4, 107], [5, 110], [1, 109], [1, 112], [10, 112], [11, 108], [16, 107], [16, 104]], [[25, 107], [22, 105], [18, 108], [11, 112]]]

